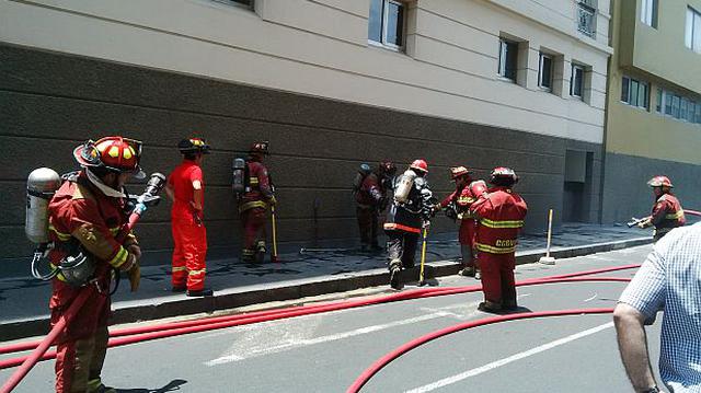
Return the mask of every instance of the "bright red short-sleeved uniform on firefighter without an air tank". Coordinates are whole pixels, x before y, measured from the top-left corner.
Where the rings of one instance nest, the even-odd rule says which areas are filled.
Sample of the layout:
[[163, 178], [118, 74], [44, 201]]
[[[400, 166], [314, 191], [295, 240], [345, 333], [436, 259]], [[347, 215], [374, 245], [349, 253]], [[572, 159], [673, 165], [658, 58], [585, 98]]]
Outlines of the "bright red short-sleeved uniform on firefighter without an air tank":
[[203, 222], [204, 210], [193, 206], [195, 182], [202, 184], [204, 195], [202, 167], [193, 160], [183, 160], [168, 177], [168, 186], [173, 190], [171, 228], [174, 246], [171, 280], [174, 289], [186, 288], [193, 292], [204, 290], [207, 273], [207, 229]]

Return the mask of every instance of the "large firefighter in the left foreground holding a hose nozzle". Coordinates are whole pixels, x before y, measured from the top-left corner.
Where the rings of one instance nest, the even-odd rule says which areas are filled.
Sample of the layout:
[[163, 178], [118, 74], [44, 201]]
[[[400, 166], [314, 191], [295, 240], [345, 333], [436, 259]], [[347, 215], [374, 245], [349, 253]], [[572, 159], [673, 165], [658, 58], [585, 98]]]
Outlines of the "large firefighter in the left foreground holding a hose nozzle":
[[[64, 176], [64, 184], [49, 203], [49, 236], [56, 242], [48, 256], [53, 267], [67, 256], [74, 261], [87, 257], [53, 279], [51, 325], [79, 293], [90, 291], [84, 305], [56, 339], [56, 392], [114, 392], [101, 381], [107, 352], [110, 285], [113, 269], [138, 270], [141, 250], [134, 234], [122, 244], [115, 236], [128, 221], [124, 184], [131, 175], [143, 176], [140, 154], [141, 142], [122, 137], [77, 147], [73, 155], [82, 170]], [[92, 275], [70, 273], [85, 266], [91, 266], [88, 271], [94, 266]], [[74, 277], [81, 276], [90, 279], [77, 281]]]

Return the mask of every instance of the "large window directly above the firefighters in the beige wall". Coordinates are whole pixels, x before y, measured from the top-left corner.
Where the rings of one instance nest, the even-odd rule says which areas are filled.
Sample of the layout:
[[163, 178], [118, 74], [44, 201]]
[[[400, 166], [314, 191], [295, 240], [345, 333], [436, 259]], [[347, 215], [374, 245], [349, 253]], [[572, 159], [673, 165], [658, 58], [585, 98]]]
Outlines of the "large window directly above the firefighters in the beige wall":
[[368, 41], [401, 49], [404, 46], [405, 5], [392, 0], [370, 0]]

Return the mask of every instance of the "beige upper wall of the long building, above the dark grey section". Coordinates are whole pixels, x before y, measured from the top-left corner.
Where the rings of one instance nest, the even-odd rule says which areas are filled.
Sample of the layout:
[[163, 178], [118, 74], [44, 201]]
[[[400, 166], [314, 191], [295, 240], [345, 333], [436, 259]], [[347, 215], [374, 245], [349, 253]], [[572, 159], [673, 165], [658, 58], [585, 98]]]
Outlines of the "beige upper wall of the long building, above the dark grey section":
[[[608, 0], [597, 38], [574, 1], [420, 0], [406, 54], [369, 46], [368, 0], [0, 2], [0, 41], [239, 83], [600, 143]], [[550, 25], [550, 26], [549, 26]], [[521, 85], [496, 76], [502, 34], [524, 41]], [[538, 51], [561, 57], [555, 93], [537, 86]], [[590, 68], [586, 102], [570, 63]]]

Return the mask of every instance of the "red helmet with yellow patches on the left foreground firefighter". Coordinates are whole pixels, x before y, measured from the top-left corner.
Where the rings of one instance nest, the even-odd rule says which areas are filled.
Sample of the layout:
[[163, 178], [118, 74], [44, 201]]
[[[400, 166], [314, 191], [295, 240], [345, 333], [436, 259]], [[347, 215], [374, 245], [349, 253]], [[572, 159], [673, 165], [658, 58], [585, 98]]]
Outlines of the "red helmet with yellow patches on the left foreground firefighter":
[[73, 157], [81, 166], [104, 167], [117, 173], [133, 173], [143, 178], [139, 166], [141, 142], [123, 137], [104, 137], [96, 141], [89, 140], [73, 150]]

